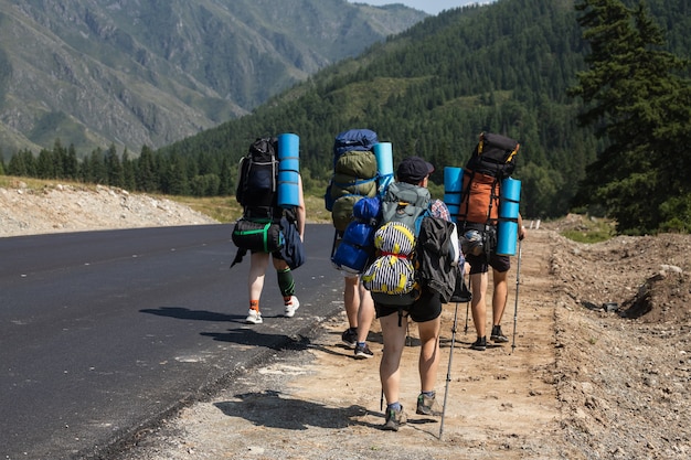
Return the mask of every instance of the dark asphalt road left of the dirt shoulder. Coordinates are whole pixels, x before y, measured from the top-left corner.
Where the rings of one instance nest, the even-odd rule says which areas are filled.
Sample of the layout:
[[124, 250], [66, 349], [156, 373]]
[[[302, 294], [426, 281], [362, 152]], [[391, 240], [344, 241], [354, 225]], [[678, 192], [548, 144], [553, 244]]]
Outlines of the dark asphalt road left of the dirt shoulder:
[[339, 311], [333, 227], [308, 225], [300, 309], [283, 318], [270, 268], [264, 324], [244, 324], [231, 229], [0, 238], [0, 458], [97, 456]]

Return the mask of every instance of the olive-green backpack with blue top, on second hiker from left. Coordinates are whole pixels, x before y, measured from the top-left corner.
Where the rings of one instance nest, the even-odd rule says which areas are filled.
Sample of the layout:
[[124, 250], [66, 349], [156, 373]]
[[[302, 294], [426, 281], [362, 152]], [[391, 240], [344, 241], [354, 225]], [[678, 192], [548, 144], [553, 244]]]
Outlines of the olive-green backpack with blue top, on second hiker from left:
[[344, 232], [352, 221], [353, 205], [363, 196], [378, 192], [376, 133], [351, 129], [339, 133], [333, 142], [333, 176], [327, 186], [325, 207], [331, 212], [333, 226]]

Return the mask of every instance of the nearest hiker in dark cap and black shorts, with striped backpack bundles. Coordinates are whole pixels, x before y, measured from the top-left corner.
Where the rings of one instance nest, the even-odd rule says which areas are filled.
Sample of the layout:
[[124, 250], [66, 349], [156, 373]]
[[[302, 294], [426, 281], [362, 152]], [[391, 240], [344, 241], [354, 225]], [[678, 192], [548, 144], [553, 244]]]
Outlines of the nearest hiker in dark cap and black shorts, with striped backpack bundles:
[[439, 365], [442, 304], [448, 302], [463, 271], [456, 226], [446, 204], [432, 200], [427, 190], [434, 167], [419, 157], [404, 159], [396, 181], [382, 200], [382, 225], [375, 233], [376, 259], [362, 275], [374, 299], [383, 336], [380, 363], [382, 391], [386, 398], [384, 430], [397, 431], [407, 421], [400, 400], [401, 359], [408, 319], [417, 323], [421, 392], [416, 414], [433, 410]]

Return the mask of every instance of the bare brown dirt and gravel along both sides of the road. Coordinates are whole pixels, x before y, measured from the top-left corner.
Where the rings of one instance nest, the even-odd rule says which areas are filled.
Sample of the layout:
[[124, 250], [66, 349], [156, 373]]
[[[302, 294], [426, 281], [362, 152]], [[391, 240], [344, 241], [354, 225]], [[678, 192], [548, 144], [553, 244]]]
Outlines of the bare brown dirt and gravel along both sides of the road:
[[[15, 191], [0, 192], [0, 199], [8, 193], [15, 199]], [[51, 200], [75, 213], [72, 222], [106, 210], [99, 200], [110, 200], [61, 196]], [[115, 200], [121, 205], [130, 199]], [[42, 207], [46, 201], [0, 203], [0, 236], [124, 226], [121, 214], [110, 212], [85, 218], [84, 227], [51, 227], [55, 217]], [[209, 223], [196, 213], [162, 207], [143, 207], [147, 216], [132, 216], [130, 224], [138, 225], [131, 226], [161, 225], [171, 213], [178, 218], [167, 217], [163, 225]], [[14, 208], [23, 210], [21, 218], [11, 214]], [[340, 343], [347, 327], [341, 313], [217, 393], [142, 428], [109, 458], [690, 458], [691, 236], [619, 236], [585, 245], [560, 235], [578, 229], [581, 218], [530, 229], [520, 259], [512, 258], [502, 321], [509, 343], [469, 350], [475, 332], [467, 306], [445, 307], [437, 377], [443, 431], [442, 417], [414, 414], [415, 325], [402, 360], [408, 424], [382, 431], [379, 324], [369, 336], [374, 359], [358, 361]], [[18, 221], [21, 232], [6, 228]]]

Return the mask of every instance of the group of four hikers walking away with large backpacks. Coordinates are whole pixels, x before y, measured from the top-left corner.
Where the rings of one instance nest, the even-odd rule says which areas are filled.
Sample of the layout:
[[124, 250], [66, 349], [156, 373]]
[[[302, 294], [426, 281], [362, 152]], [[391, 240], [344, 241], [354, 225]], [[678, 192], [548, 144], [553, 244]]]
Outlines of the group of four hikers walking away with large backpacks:
[[[263, 322], [259, 299], [269, 258], [285, 301], [284, 315], [293, 317], [300, 304], [291, 269], [304, 263], [306, 210], [299, 173], [288, 174], [290, 168], [297, 170], [295, 163], [281, 163], [289, 164], [297, 154], [286, 154], [290, 148], [285, 147], [286, 142], [281, 146], [280, 138], [258, 139], [240, 168], [236, 196], [244, 214], [233, 232], [238, 247], [233, 264], [251, 253], [246, 318], [251, 324]], [[510, 138], [481, 133], [464, 169], [449, 171], [447, 178], [445, 168], [445, 182], [449, 181], [445, 183], [445, 200], [435, 200], [427, 189], [435, 172], [432, 163], [416, 156], [406, 157], [394, 172], [391, 145], [379, 142], [374, 131], [351, 129], [336, 137], [334, 170], [325, 204], [334, 226], [331, 261], [343, 277], [348, 329], [341, 340], [353, 350], [355, 359], [371, 359], [374, 353], [366, 340], [374, 319], [380, 322], [384, 430], [397, 431], [407, 419], [400, 398], [400, 365], [410, 321], [417, 324], [421, 341], [416, 414], [438, 415], [433, 406], [444, 303], [459, 299], [470, 302], [477, 332], [470, 349], [486, 350], [490, 267], [493, 292], [489, 340], [509, 341], [501, 330], [501, 318], [508, 299], [510, 243], [511, 238], [512, 243], [522, 240], [525, 228], [518, 213], [518, 196], [504, 196], [501, 189], [502, 183], [506, 189], [513, 186], [503, 181], [511, 181], [518, 148]], [[277, 183], [286, 189], [280, 190]], [[458, 196], [453, 195], [456, 192]], [[504, 202], [515, 208], [507, 207]]]

